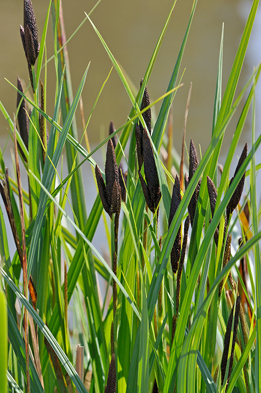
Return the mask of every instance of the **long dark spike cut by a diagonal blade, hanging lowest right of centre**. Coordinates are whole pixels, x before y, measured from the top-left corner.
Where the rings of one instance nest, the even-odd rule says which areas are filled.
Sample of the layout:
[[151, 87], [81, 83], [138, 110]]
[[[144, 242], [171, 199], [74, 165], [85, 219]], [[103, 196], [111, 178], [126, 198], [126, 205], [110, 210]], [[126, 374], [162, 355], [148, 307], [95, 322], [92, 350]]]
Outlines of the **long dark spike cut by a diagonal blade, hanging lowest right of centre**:
[[[170, 211], [169, 211], [169, 219], [168, 219], [168, 229], [173, 220], [173, 217], [181, 203], [181, 194], [180, 194], [180, 181], [178, 175], [176, 175], [175, 183], [173, 184], [172, 189], [172, 197], [170, 202]], [[180, 260], [180, 251], [181, 251], [181, 226], [178, 230], [177, 236], [173, 243], [173, 247], [170, 253], [170, 263], [172, 272], [176, 273], [178, 270], [178, 264]]]

